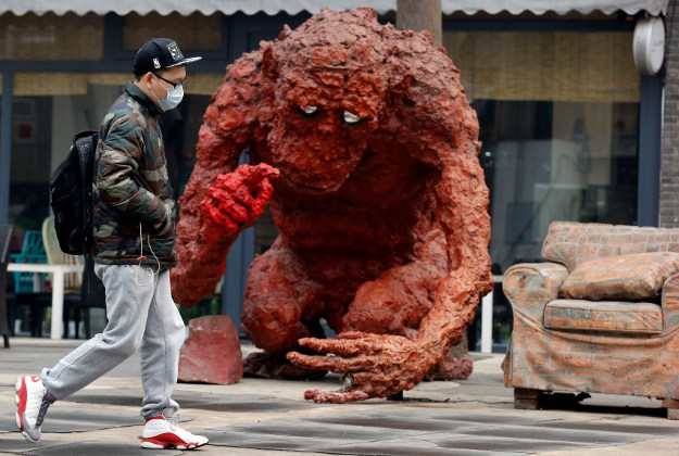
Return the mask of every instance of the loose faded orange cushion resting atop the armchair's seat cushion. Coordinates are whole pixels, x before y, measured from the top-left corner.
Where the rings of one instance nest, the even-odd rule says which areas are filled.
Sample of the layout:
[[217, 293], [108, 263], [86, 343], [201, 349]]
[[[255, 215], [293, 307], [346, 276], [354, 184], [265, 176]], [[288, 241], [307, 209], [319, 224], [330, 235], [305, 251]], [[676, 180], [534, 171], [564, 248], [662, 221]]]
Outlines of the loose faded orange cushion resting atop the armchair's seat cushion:
[[590, 301], [647, 300], [679, 270], [679, 253], [634, 253], [590, 259], [573, 270], [561, 288], [563, 297]]

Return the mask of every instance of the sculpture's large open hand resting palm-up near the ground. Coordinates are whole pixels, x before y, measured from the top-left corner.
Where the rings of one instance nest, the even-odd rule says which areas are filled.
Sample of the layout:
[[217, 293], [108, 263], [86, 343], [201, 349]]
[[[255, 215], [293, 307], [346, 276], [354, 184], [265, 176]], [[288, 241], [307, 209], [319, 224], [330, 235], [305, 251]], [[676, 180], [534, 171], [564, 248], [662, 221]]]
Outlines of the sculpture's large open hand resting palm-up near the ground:
[[317, 403], [343, 404], [411, 390], [422, 381], [436, 357], [417, 341], [360, 331], [342, 332], [336, 340], [304, 338], [299, 343], [335, 356], [290, 352], [287, 356], [292, 363], [344, 375], [343, 391], [304, 393], [304, 398]]

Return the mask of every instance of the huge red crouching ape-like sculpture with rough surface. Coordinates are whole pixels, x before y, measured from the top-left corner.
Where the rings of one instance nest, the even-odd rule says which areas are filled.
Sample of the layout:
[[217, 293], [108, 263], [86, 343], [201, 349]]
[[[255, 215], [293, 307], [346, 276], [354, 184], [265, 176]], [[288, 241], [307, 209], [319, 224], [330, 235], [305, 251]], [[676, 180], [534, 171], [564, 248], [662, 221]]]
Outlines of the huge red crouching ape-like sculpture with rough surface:
[[[372, 9], [286, 26], [227, 67], [205, 112], [175, 299], [212, 290], [271, 197], [280, 236], [252, 263], [242, 312], [267, 355], [249, 368], [287, 353], [345, 375], [343, 391], [309, 391], [316, 402], [412, 389], [492, 286], [479, 147], [458, 71], [429, 33], [380, 25]], [[259, 165], [236, 169], [244, 149]], [[320, 318], [337, 340], [322, 339]]]

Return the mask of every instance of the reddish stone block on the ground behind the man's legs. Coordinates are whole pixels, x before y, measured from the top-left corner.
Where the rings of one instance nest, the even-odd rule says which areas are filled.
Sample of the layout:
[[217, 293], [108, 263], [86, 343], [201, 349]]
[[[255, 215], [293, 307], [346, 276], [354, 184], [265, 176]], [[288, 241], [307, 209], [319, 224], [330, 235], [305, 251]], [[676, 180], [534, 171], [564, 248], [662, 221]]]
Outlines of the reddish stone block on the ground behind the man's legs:
[[189, 338], [179, 353], [179, 381], [231, 384], [243, 376], [238, 330], [226, 315], [189, 321]]

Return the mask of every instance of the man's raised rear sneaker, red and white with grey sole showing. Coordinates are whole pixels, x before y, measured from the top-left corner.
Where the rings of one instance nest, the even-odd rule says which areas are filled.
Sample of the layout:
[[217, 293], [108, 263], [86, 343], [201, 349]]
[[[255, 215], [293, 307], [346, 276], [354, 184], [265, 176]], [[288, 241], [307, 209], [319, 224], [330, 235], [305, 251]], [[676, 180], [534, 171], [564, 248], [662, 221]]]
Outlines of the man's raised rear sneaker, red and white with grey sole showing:
[[17, 378], [14, 391], [16, 391], [14, 403], [17, 407], [16, 427], [28, 442], [36, 443], [40, 440], [40, 427], [47, 408], [54, 401], [48, 398], [47, 388], [42, 384], [40, 376]]

